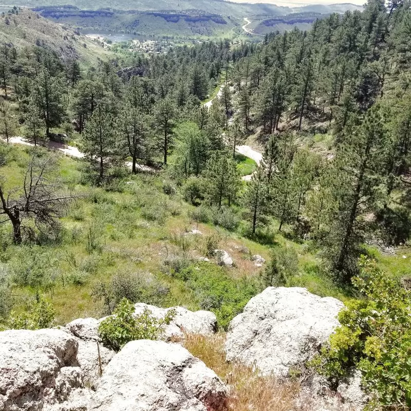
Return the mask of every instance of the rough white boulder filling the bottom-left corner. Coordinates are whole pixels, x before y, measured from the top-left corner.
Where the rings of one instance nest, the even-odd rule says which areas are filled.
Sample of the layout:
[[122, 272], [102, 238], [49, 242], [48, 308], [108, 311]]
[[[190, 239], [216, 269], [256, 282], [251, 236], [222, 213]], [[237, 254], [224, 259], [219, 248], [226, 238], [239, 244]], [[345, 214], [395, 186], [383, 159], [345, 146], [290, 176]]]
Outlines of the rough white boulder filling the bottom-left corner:
[[0, 332], [0, 409], [36, 411], [83, 386], [77, 339], [56, 329]]

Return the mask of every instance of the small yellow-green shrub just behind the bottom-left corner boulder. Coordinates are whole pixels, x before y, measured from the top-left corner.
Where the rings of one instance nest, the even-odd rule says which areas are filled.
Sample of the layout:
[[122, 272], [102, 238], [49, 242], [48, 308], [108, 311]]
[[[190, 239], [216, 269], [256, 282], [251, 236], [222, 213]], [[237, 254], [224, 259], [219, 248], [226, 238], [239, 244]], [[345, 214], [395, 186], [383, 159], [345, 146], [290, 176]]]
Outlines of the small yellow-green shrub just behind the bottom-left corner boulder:
[[27, 306], [24, 312], [12, 312], [7, 327], [15, 330], [49, 328], [54, 321], [54, 317], [53, 306], [43, 297], [38, 296], [34, 302]]

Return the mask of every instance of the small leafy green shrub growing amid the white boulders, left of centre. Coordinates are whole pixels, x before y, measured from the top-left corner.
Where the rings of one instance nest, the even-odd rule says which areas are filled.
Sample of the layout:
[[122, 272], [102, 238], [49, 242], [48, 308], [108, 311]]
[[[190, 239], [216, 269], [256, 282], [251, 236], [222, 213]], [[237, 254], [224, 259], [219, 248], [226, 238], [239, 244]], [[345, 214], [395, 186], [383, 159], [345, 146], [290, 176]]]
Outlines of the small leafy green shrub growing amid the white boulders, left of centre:
[[157, 319], [148, 309], [140, 315], [135, 315], [134, 311], [134, 305], [127, 298], [120, 301], [114, 315], [107, 317], [99, 326], [103, 344], [118, 351], [130, 341], [157, 340], [175, 315], [175, 311], [169, 310], [164, 319]]

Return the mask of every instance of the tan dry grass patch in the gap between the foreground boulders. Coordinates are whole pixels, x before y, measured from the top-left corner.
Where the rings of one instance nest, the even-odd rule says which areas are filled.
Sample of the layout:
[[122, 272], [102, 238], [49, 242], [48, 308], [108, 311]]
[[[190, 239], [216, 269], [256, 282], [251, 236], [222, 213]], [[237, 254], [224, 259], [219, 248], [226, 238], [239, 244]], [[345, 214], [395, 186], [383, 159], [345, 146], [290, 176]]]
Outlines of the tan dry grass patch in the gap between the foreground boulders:
[[263, 377], [252, 367], [228, 363], [225, 357], [225, 333], [211, 337], [187, 335], [184, 346], [203, 361], [230, 387], [227, 411], [289, 411], [295, 408], [298, 383]]

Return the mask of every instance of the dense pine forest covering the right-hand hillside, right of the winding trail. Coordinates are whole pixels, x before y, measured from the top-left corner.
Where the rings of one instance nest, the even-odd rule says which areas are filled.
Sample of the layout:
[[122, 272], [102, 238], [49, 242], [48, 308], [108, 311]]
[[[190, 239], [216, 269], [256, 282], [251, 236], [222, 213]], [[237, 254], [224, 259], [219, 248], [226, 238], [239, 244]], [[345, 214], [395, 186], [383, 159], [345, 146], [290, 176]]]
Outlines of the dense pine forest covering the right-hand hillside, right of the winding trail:
[[[253, 231], [267, 215], [288, 223], [344, 283], [364, 241], [409, 235], [410, 23], [409, 2], [370, 0], [233, 64], [236, 114], [268, 140], [247, 194]], [[303, 149], [315, 133], [332, 135], [323, 158]]]

